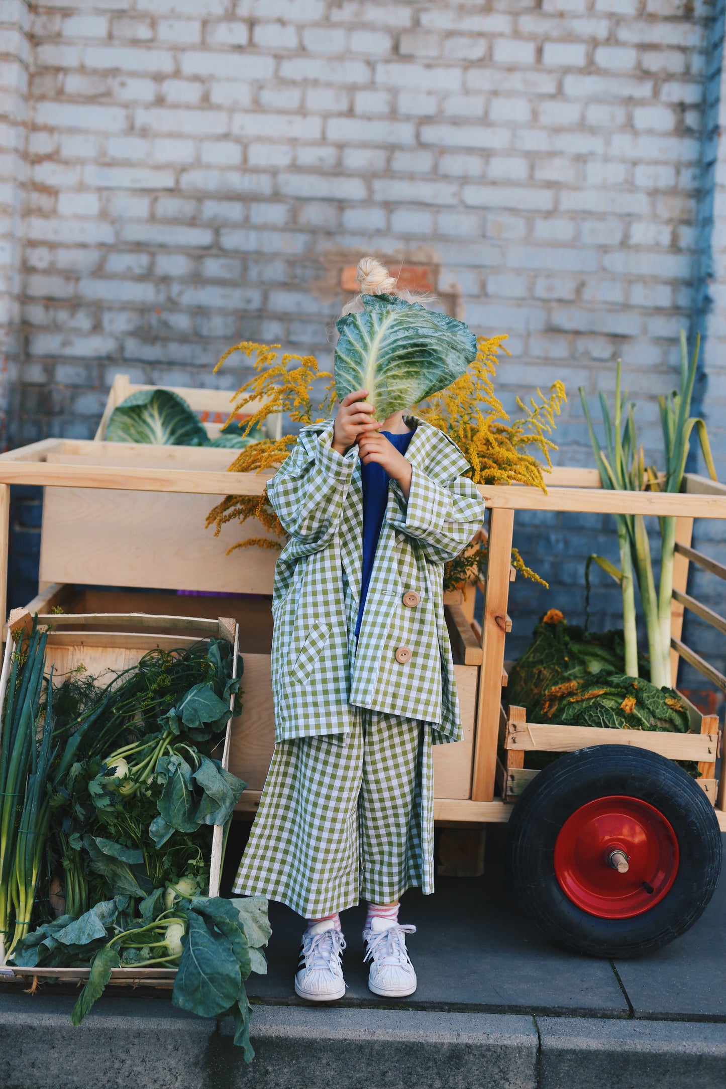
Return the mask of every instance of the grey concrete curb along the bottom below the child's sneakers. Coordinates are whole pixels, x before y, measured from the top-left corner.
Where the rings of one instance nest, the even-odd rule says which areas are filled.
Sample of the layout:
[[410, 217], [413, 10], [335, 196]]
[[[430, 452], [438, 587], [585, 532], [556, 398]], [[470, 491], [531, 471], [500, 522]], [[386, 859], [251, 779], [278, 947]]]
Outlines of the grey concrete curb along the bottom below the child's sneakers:
[[0, 995], [3, 1089], [723, 1089], [726, 1025], [255, 1006], [253, 1066], [163, 999]]

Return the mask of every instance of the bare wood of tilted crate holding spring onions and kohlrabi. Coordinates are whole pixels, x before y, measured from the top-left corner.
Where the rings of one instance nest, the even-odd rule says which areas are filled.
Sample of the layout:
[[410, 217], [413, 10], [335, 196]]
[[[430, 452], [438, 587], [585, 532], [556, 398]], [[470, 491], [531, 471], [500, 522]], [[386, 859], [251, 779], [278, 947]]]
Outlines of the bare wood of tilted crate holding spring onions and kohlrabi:
[[[36, 610], [34, 610], [35, 612]], [[10, 632], [16, 637], [21, 629], [27, 629], [32, 613], [26, 609], [15, 609], [10, 616]], [[51, 625], [46, 645], [46, 670], [53, 666], [56, 684], [64, 676], [84, 665], [89, 674], [111, 681], [118, 671], [136, 665], [147, 651], [159, 647], [172, 650], [190, 647], [199, 641], [208, 641], [218, 636], [227, 639], [234, 647], [234, 675], [236, 675], [238, 651], [238, 625], [232, 617], [217, 620], [198, 616], [158, 616], [146, 613], [126, 614], [57, 614], [39, 613], [38, 623]], [[10, 674], [13, 638], [5, 641], [2, 674], [0, 677], [0, 707]], [[232, 701], [234, 697], [232, 698]], [[223, 768], [230, 768], [230, 743], [232, 722], [213, 752]], [[222, 845], [224, 830], [216, 825], [212, 832], [209, 895], [219, 896], [222, 867]], [[86, 979], [88, 968], [16, 968], [12, 972], [19, 977], [51, 978], [62, 981]], [[171, 987], [176, 976], [175, 968], [114, 968], [111, 980], [115, 983], [144, 983], [150, 987]]]

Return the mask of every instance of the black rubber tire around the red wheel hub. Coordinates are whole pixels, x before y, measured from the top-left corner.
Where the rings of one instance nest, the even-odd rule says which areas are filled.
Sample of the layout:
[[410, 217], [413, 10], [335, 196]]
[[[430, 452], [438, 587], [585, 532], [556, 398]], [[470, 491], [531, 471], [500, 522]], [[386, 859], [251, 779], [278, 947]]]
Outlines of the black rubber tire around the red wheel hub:
[[[562, 891], [553, 864], [567, 818], [616, 794], [659, 809], [680, 853], [665, 897], [630, 919], [583, 911]], [[507, 840], [509, 881], [522, 911], [551, 941], [589, 956], [636, 957], [667, 945], [701, 916], [721, 873], [721, 831], [704, 792], [672, 760], [627, 745], [578, 749], [541, 771], [514, 807]]]

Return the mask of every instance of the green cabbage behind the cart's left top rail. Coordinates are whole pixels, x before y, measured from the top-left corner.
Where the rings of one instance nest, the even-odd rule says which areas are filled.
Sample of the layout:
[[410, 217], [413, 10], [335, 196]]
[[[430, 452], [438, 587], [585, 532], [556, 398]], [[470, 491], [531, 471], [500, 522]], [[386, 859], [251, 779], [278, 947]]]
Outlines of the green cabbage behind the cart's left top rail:
[[111, 413], [107, 442], [207, 446], [204, 425], [184, 397], [172, 390], [137, 390]]

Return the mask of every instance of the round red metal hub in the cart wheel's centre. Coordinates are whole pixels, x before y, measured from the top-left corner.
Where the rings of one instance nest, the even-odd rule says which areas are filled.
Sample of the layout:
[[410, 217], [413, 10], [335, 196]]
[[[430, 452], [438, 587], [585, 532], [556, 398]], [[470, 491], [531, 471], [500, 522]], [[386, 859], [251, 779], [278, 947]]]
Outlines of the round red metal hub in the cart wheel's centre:
[[678, 857], [676, 833], [662, 812], [639, 798], [613, 795], [588, 802], [565, 821], [554, 869], [562, 891], [583, 911], [629, 919], [663, 900]]

